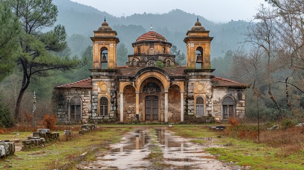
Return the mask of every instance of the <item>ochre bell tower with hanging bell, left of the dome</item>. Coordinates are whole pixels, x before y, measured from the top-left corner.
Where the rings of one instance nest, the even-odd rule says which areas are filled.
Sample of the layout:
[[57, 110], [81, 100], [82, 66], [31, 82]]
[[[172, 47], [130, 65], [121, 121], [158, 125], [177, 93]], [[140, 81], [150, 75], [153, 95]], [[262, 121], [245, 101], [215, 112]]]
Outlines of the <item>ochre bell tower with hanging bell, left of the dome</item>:
[[93, 69], [115, 69], [117, 66], [116, 48], [119, 39], [117, 32], [109, 27], [105, 20], [98, 31], [94, 31], [93, 42]]

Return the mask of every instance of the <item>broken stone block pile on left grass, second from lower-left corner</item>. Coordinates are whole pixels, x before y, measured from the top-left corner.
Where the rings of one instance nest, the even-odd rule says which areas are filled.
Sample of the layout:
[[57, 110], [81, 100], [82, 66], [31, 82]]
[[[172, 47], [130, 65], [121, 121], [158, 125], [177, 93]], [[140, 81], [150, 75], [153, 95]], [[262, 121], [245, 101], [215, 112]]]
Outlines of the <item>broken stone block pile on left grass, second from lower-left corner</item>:
[[31, 146], [44, 146], [45, 142], [59, 140], [59, 132], [52, 132], [50, 129], [37, 129], [33, 136], [22, 140], [22, 149], [30, 148]]

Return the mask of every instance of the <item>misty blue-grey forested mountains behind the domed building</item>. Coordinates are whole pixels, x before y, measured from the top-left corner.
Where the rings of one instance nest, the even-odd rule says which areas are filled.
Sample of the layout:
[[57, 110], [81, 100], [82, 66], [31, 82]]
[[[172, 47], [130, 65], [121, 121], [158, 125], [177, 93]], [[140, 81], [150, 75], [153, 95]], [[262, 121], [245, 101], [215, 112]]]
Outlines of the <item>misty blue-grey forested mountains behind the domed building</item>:
[[[90, 36], [93, 31], [97, 30], [106, 17], [109, 26], [118, 32], [118, 38], [128, 48], [128, 53], [132, 54], [133, 47], [131, 43], [141, 34], [150, 31], [151, 25], [153, 31], [156, 31], [167, 38], [173, 45], [177, 46], [181, 52], [186, 53], [186, 44], [183, 42], [186, 32], [194, 26], [197, 15], [186, 13], [182, 10], [175, 9], [164, 14], [133, 14], [130, 16], [116, 17], [106, 11], [86, 6], [70, 0], [53, 0], [57, 5], [58, 17], [56, 24], [65, 26], [68, 34], [68, 45], [72, 49], [72, 54], [80, 55], [81, 51], [88, 45], [91, 45]], [[136, 13], [136, 11], [134, 11]], [[195, 12], [195, 11], [194, 11]], [[243, 40], [241, 34], [246, 30], [248, 22], [243, 20], [230, 21], [228, 23], [214, 23], [199, 16], [200, 22], [206, 30], [210, 31], [210, 36], [214, 37], [211, 46], [211, 58], [223, 57], [223, 53], [229, 49], [234, 49], [239, 41]], [[79, 34], [88, 41], [72, 43], [71, 41], [83, 40], [75, 38]], [[74, 36], [70, 38], [71, 36]], [[82, 43], [81, 46], [73, 46]], [[77, 49], [74, 51], [73, 49]], [[127, 57], [127, 56], [126, 56]]]

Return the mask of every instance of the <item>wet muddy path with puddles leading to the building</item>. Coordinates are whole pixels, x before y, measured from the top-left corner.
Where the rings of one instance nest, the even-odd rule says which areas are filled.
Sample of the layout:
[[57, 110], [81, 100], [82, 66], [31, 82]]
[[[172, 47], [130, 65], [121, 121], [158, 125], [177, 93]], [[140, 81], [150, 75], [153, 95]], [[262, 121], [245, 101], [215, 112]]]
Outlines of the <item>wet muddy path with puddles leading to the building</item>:
[[232, 170], [204, 151], [212, 139], [199, 145], [174, 136], [165, 127], [138, 128], [111, 145], [105, 155], [78, 165], [80, 170]]

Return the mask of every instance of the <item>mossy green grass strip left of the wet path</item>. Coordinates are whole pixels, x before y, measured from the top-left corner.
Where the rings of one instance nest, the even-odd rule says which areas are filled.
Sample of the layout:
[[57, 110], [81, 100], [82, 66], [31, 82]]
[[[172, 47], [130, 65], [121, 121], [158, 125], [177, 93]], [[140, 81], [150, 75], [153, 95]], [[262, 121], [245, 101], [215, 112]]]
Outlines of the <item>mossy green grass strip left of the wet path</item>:
[[[9, 170], [49, 170], [60, 169], [64, 164], [65, 170], [76, 170], [79, 155], [88, 152], [86, 158], [93, 159], [99, 149], [107, 150], [106, 141], [117, 142], [120, 136], [132, 128], [99, 128], [97, 131], [86, 133], [71, 141], [61, 140], [47, 143], [43, 149], [34, 148], [29, 151], [16, 152], [6, 161], [0, 160], [0, 169]], [[76, 132], [74, 132], [76, 133]], [[62, 133], [60, 133], [62, 134]], [[95, 148], [92, 150], [92, 148]], [[44, 152], [41, 152], [44, 151]]]

